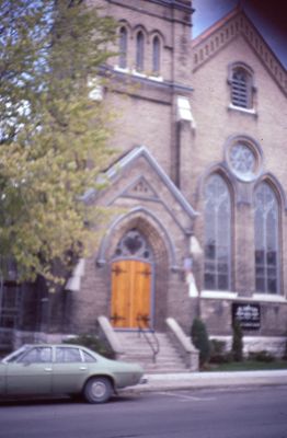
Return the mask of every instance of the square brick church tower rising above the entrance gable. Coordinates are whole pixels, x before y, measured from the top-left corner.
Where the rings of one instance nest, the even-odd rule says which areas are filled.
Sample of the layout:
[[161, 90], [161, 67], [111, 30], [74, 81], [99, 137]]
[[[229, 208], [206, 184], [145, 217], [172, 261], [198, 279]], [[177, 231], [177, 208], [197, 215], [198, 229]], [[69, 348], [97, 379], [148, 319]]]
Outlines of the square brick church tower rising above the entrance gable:
[[[118, 23], [115, 47], [118, 56], [110, 61], [108, 69], [114, 78], [112, 105], [123, 114], [123, 124], [113, 146], [122, 149], [124, 145], [125, 149], [147, 146], [180, 187], [185, 161], [182, 151], [192, 141], [190, 114], [185, 131], [179, 131], [180, 106], [187, 105], [183, 111], [188, 113], [193, 92], [192, 1], [91, 0], [91, 3], [103, 7], [104, 13]], [[120, 100], [123, 94], [126, 100]]]

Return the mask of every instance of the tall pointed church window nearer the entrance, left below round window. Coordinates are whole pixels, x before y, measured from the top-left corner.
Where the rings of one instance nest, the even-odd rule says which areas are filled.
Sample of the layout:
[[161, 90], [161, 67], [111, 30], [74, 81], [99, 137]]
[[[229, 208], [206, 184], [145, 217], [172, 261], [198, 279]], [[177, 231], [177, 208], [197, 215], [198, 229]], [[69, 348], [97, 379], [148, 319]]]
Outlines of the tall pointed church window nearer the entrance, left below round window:
[[205, 187], [205, 288], [230, 290], [231, 199], [223, 178], [211, 175]]

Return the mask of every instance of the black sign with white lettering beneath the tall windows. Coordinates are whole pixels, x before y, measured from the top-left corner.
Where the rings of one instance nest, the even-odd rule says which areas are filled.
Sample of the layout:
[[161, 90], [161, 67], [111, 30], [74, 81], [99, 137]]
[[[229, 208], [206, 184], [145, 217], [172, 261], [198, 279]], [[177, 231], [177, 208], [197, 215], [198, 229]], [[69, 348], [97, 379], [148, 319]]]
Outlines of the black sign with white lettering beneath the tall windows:
[[260, 304], [248, 302], [232, 303], [232, 321], [239, 321], [241, 328], [259, 330], [261, 326]]

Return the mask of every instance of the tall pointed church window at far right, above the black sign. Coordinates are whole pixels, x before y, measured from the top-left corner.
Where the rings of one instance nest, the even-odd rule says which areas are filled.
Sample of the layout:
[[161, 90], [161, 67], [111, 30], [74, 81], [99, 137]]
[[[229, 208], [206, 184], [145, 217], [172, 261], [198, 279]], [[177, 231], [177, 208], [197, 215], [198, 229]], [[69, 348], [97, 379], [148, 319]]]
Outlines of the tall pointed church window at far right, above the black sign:
[[255, 287], [257, 292], [279, 291], [278, 201], [267, 183], [255, 191]]

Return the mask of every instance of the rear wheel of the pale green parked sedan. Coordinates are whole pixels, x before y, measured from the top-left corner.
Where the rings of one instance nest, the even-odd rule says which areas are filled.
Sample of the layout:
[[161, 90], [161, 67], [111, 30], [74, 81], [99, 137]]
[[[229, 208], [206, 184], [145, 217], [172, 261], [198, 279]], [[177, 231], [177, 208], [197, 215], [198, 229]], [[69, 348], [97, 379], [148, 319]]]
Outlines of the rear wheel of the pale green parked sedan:
[[111, 381], [105, 377], [93, 377], [88, 380], [83, 395], [89, 403], [105, 403], [113, 393]]

